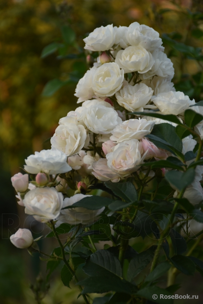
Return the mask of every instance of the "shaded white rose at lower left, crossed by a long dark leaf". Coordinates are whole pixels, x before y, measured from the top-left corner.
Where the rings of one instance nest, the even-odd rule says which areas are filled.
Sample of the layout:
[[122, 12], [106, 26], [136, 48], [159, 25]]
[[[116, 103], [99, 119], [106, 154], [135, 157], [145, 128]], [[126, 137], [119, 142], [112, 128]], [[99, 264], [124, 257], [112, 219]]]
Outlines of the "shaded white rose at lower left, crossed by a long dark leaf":
[[[63, 201], [63, 208], [67, 206], [72, 206], [74, 203], [80, 201], [81, 199], [90, 196], [92, 195], [75, 194], [70, 198], [65, 198]], [[82, 207], [63, 209], [61, 210], [59, 220], [62, 223], [68, 223], [70, 225], [88, 224], [88, 223], [92, 224], [98, 220], [99, 215], [102, 213], [104, 209], [105, 207], [98, 210], [89, 210]]]

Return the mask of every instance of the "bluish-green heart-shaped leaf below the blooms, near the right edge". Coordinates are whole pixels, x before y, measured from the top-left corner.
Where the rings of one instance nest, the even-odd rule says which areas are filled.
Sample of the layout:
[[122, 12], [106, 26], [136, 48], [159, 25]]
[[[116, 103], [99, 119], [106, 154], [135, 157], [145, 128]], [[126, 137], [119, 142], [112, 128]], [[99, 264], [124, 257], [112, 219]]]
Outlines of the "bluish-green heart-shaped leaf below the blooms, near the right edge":
[[166, 173], [165, 177], [171, 185], [181, 191], [194, 181], [195, 170], [193, 168], [188, 169], [186, 172], [171, 170]]

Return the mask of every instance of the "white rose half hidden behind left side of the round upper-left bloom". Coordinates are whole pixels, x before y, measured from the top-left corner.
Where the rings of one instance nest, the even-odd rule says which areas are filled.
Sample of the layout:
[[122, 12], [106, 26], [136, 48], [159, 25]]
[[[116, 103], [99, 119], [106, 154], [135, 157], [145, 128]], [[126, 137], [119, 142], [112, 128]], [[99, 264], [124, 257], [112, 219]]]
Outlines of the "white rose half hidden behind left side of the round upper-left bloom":
[[91, 86], [92, 78], [95, 71], [96, 67], [91, 67], [91, 69], [84, 74], [83, 78], [78, 81], [74, 94], [76, 97], [79, 98], [77, 103], [85, 101], [87, 99], [91, 99], [93, 97], [94, 92]]

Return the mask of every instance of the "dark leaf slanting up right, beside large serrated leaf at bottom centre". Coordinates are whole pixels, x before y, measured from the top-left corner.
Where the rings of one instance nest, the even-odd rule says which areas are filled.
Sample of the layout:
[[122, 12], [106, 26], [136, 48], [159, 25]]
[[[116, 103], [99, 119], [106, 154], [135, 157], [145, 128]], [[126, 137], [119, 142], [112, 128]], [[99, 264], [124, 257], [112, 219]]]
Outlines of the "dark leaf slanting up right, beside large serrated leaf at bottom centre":
[[131, 261], [127, 271], [128, 281], [132, 281], [150, 262], [154, 256], [155, 247], [137, 254]]

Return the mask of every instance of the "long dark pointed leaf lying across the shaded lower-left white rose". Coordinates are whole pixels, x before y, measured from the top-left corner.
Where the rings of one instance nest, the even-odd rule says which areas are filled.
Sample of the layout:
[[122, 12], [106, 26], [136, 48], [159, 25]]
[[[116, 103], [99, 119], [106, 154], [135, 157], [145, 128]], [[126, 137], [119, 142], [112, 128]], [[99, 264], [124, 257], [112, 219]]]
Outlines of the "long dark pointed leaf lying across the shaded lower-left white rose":
[[110, 199], [108, 197], [92, 195], [85, 197], [84, 199], [81, 199], [80, 201], [74, 203], [73, 205], [67, 206], [62, 209], [82, 207], [89, 210], [97, 210], [97, 209], [101, 209], [102, 207], [109, 206], [112, 202], [113, 199]]

